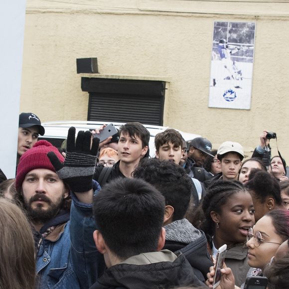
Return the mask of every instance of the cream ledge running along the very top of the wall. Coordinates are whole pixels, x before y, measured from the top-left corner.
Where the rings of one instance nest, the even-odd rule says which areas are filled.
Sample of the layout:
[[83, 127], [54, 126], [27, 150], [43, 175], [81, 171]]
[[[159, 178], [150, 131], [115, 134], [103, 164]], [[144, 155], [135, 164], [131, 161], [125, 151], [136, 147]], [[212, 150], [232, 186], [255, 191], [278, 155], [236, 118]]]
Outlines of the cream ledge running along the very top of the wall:
[[285, 0], [27, 0], [26, 13], [289, 16]]

